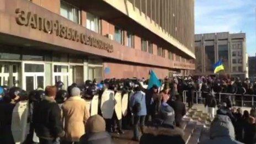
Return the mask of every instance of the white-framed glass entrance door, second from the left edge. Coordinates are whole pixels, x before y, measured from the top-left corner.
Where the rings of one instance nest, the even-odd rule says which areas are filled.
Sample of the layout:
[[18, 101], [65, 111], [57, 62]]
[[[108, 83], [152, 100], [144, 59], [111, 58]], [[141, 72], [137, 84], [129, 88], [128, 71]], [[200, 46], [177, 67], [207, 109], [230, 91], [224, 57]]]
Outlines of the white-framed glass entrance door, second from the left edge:
[[27, 92], [37, 88], [45, 88], [43, 63], [24, 63], [24, 89]]

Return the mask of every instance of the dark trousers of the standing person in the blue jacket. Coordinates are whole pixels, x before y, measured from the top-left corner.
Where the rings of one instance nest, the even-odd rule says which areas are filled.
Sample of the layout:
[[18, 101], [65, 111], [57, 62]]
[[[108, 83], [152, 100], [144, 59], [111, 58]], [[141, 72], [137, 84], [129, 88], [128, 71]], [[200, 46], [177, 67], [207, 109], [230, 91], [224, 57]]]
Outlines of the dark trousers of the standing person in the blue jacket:
[[[142, 116], [138, 116], [138, 115], [135, 115], [134, 116], [134, 138], [137, 138], [138, 139], [138, 135], [139, 135], [139, 131], [138, 131], [138, 126], [140, 124], [140, 128], [141, 128], [141, 131], [143, 130], [143, 126], [145, 126], [145, 115], [142, 115]], [[142, 131], [143, 133], [143, 131]]]

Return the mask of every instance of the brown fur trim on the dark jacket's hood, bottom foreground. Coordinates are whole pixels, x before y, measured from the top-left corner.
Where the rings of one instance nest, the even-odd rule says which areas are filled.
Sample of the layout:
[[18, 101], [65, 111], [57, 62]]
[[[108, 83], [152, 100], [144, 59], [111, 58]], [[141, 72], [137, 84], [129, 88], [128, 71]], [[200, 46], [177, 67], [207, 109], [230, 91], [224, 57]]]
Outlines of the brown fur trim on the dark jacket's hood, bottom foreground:
[[151, 134], [153, 136], [184, 136], [184, 131], [180, 129], [179, 127], [172, 128], [166, 128], [166, 127], [152, 127], [152, 126], [146, 126], [143, 128], [143, 134]]

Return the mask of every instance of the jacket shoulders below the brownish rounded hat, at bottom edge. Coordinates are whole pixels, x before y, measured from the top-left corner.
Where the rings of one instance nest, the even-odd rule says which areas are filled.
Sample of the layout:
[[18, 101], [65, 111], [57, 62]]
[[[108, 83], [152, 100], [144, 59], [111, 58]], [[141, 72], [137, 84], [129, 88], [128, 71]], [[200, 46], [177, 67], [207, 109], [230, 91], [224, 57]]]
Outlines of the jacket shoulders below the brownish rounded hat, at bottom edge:
[[81, 144], [111, 144], [111, 136], [108, 132], [97, 132], [93, 134], [84, 134], [79, 143]]

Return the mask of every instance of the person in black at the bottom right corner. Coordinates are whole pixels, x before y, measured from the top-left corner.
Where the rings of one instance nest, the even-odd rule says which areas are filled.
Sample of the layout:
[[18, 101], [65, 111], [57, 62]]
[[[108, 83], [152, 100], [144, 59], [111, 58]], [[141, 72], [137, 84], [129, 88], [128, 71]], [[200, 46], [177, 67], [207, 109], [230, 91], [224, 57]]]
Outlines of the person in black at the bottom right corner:
[[243, 142], [246, 144], [256, 143], [256, 124], [255, 119], [249, 116], [248, 121], [244, 123], [244, 138]]

